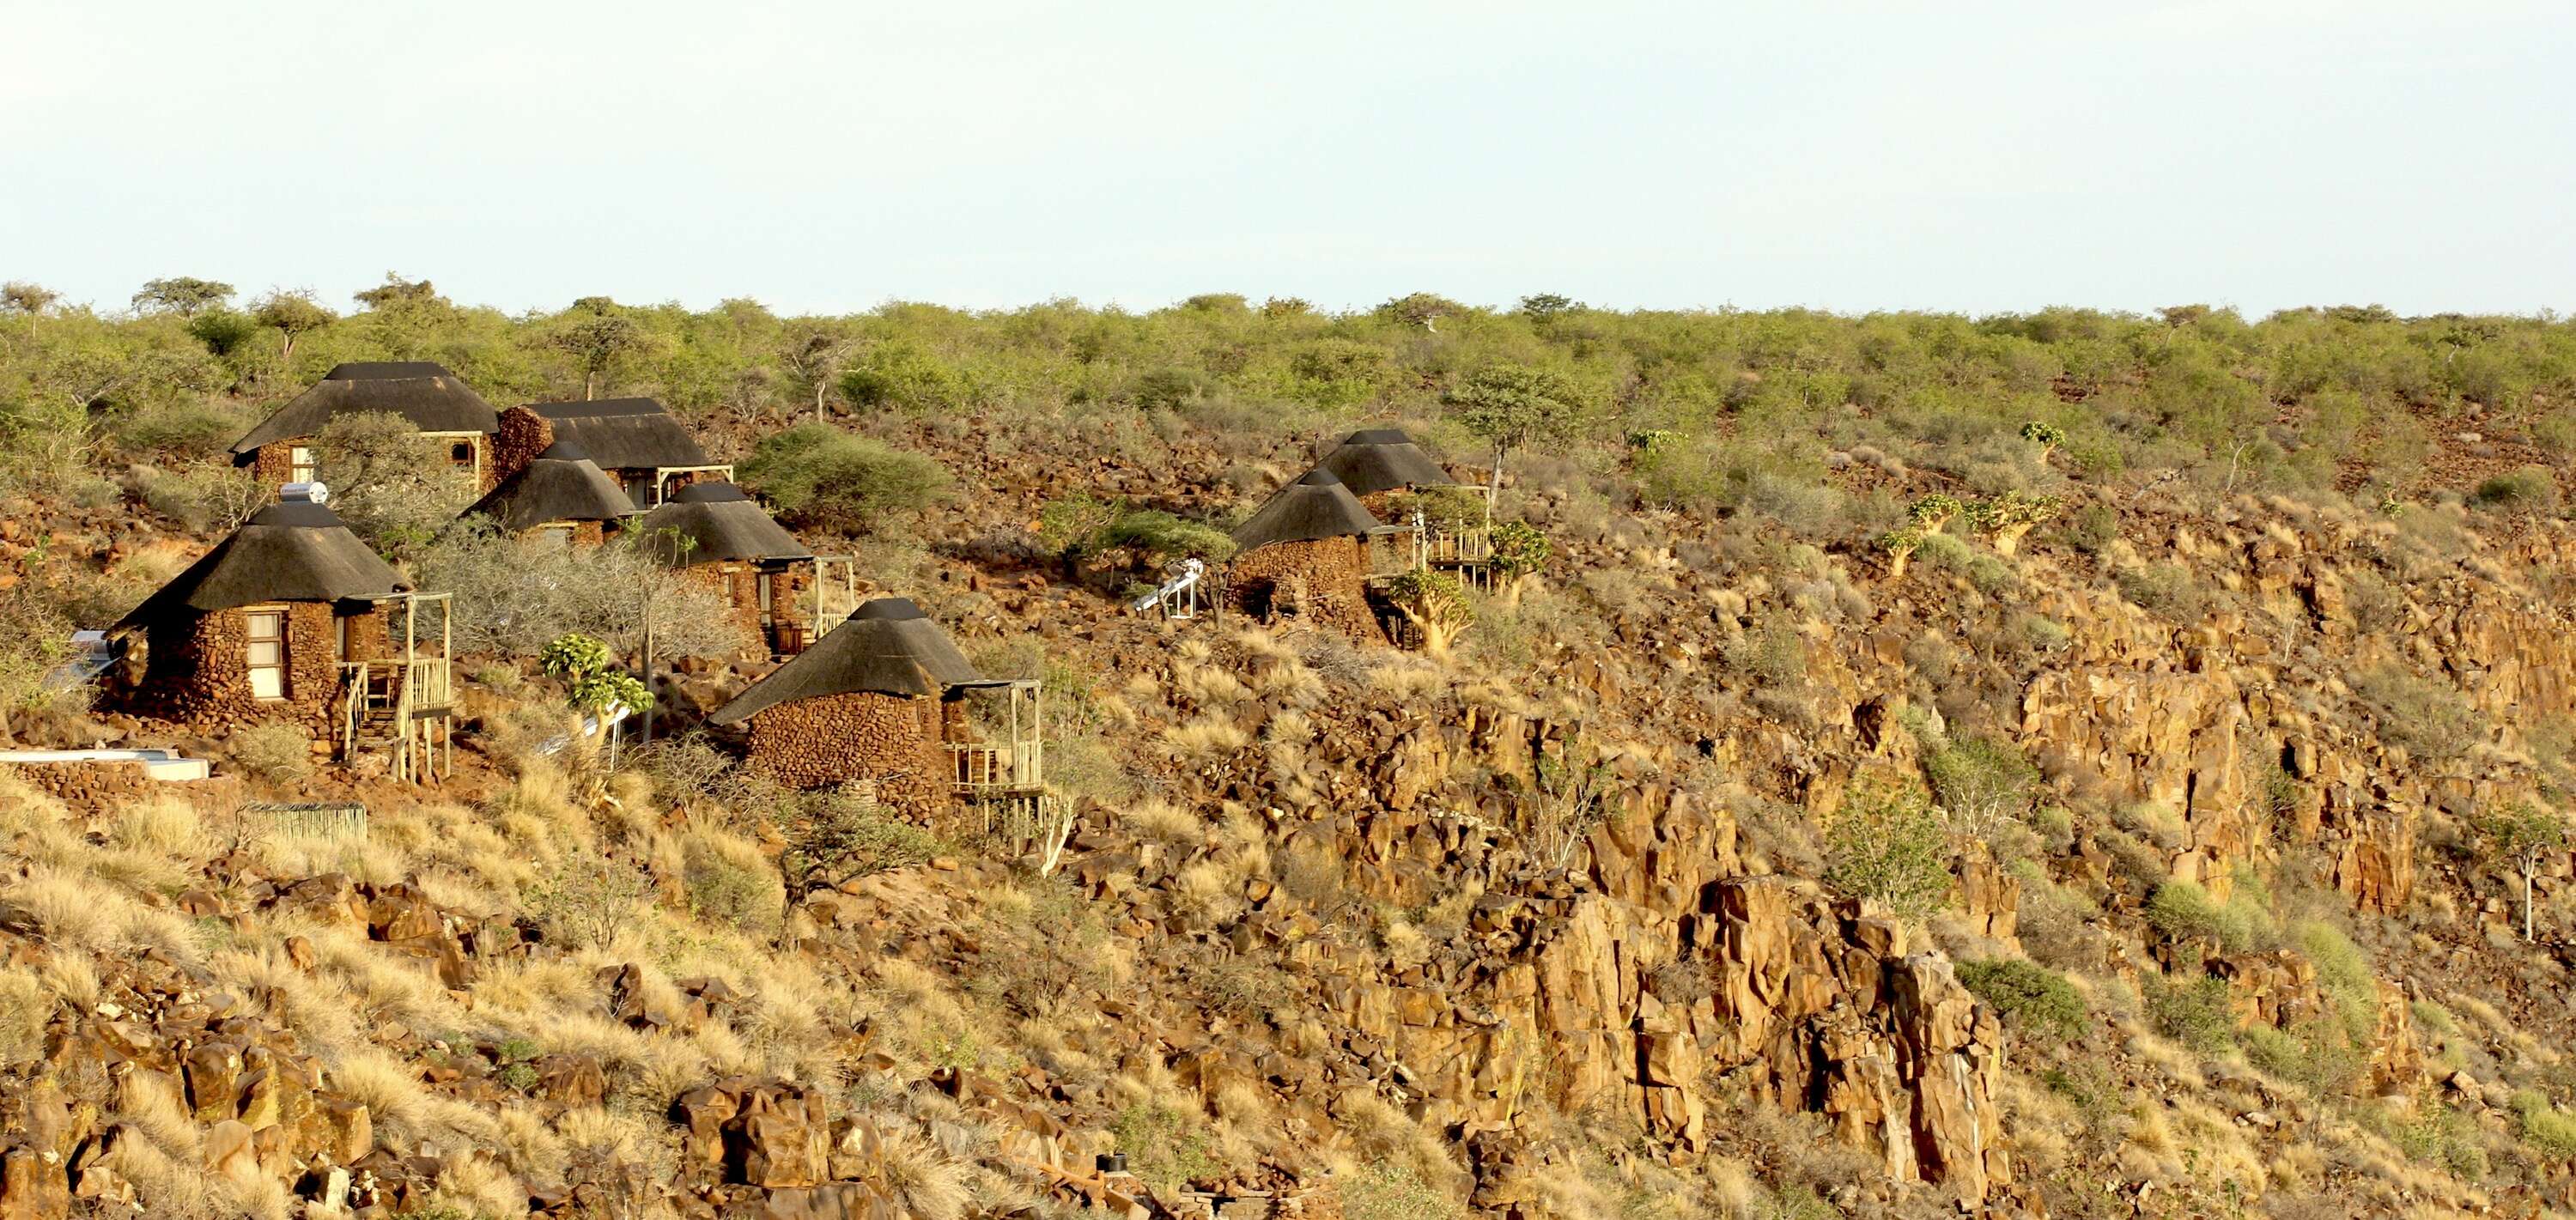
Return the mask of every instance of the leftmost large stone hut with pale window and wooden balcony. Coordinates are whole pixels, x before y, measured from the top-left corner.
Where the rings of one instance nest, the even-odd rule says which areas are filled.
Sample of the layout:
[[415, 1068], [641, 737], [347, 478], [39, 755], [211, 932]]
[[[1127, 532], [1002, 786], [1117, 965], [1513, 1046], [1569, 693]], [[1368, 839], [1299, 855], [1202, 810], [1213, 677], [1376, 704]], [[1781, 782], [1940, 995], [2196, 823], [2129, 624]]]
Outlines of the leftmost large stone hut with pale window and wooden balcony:
[[386, 610], [404, 592], [330, 507], [268, 504], [111, 628], [144, 651], [108, 698], [201, 731], [291, 721], [335, 736], [345, 664], [394, 651]]

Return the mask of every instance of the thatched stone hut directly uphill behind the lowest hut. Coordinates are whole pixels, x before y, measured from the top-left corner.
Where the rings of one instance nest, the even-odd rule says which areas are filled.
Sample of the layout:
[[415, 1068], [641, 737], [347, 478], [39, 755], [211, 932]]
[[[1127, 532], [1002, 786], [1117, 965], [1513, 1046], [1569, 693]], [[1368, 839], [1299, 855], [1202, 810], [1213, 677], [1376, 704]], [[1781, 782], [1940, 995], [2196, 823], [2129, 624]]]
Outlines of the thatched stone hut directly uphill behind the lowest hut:
[[688, 484], [626, 528], [641, 530], [644, 548], [662, 564], [719, 589], [773, 654], [793, 656], [811, 643], [811, 607], [801, 595], [817, 584], [814, 551], [739, 486]]

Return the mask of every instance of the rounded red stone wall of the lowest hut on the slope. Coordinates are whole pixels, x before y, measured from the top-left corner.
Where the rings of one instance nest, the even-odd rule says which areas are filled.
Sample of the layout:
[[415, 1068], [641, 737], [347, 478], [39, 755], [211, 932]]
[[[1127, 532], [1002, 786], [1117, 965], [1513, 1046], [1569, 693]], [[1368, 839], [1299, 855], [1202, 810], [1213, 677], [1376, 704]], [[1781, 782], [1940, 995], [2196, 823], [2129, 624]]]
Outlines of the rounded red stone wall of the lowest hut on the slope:
[[791, 788], [876, 780], [907, 813], [948, 808], [948, 749], [935, 698], [848, 692], [781, 703], [750, 726], [750, 759]]

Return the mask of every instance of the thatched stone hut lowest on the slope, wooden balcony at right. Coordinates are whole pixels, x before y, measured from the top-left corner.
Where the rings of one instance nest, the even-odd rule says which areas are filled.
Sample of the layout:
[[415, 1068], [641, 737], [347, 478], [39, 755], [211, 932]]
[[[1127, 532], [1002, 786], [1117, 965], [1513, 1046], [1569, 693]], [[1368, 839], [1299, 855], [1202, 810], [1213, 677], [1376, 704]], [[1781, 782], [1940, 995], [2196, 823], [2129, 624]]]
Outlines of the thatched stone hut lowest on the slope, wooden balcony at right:
[[[1010, 695], [1007, 739], [976, 739], [966, 695]], [[878, 800], [938, 813], [958, 798], [1043, 788], [1038, 682], [992, 679], [922, 607], [876, 597], [708, 718], [747, 723], [744, 752], [799, 788], [876, 782]]]

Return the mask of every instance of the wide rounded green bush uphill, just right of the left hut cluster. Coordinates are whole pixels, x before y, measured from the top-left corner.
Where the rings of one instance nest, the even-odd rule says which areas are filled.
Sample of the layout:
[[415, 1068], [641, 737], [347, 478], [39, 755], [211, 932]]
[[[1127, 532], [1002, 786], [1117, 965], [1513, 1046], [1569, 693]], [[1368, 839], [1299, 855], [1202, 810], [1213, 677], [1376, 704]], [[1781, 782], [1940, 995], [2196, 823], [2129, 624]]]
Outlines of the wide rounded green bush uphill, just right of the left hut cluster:
[[804, 422], [755, 445], [742, 481], [799, 525], [871, 533], [943, 504], [953, 479], [920, 453]]

